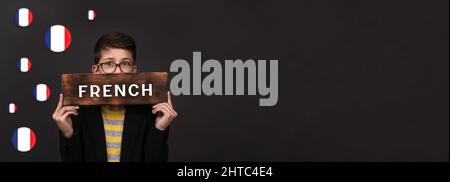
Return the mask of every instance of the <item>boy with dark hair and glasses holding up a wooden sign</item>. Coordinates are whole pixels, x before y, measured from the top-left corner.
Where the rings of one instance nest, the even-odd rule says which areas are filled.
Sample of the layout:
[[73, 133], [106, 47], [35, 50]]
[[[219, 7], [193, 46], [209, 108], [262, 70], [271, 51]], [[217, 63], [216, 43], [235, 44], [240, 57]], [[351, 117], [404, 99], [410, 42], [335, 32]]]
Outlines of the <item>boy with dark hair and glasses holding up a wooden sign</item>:
[[[94, 50], [93, 74], [136, 73], [136, 43], [124, 33], [101, 36]], [[62, 106], [53, 113], [63, 161], [167, 161], [169, 125], [177, 117], [170, 93], [153, 106]]]

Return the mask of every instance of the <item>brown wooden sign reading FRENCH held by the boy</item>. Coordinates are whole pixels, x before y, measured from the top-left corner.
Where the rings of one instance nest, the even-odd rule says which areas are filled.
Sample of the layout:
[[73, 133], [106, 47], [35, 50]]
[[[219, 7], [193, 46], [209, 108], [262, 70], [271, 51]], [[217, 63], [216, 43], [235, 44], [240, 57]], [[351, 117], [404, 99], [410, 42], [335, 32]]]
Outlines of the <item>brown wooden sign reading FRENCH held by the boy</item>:
[[167, 102], [167, 72], [63, 74], [63, 105], [138, 105]]

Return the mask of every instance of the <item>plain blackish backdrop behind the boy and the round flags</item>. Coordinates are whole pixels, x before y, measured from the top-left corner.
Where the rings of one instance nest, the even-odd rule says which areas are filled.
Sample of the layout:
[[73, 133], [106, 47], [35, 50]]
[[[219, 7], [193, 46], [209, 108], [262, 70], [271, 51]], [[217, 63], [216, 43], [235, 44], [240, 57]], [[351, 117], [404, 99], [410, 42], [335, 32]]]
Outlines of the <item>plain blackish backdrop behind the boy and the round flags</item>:
[[[14, 23], [21, 7], [33, 12], [28, 28]], [[0, 161], [60, 160], [60, 75], [90, 72], [109, 31], [136, 39], [139, 71], [169, 71], [193, 51], [279, 60], [274, 107], [258, 96], [174, 97], [169, 161], [448, 161], [448, 17], [446, 0], [2, 1]], [[45, 47], [54, 24], [71, 31], [68, 51]], [[30, 72], [17, 70], [20, 57]], [[51, 87], [48, 102], [34, 99], [37, 83]], [[20, 126], [37, 135], [27, 153], [11, 145]]]

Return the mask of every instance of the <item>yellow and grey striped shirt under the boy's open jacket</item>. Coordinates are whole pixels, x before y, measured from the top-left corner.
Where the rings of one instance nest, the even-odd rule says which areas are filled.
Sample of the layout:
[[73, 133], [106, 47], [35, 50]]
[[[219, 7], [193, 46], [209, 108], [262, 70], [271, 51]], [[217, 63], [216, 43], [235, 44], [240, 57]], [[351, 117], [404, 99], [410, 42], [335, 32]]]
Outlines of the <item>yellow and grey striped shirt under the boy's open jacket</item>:
[[125, 108], [113, 111], [102, 107], [103, 127], [105, 129], [106, 155], [108, 162], [120, 162], [123, 122]]

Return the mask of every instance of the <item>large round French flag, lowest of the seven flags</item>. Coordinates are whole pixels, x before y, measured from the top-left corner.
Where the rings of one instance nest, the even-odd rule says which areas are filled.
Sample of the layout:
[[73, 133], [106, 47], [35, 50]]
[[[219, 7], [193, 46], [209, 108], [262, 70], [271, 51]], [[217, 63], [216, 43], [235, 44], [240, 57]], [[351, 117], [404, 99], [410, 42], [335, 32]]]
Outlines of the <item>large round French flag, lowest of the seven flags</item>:
[[28, 127], [18, 128], [11, 140], [14, 148], [20, 152], [28, 152], [36, 145], [36, 135]]

